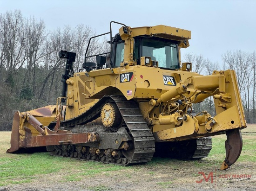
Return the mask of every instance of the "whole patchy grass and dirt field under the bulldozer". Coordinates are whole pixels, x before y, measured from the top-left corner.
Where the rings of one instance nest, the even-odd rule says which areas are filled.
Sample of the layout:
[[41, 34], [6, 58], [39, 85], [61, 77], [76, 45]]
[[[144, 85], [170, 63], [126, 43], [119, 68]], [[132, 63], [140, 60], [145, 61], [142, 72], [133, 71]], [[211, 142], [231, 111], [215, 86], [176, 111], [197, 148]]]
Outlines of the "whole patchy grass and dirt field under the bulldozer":
[[254, 191], [256, 125], [248, 125], [242, 135], [240, 158], [220, 171], [225, 135], [213, 137], [213, 149], [206, 159], [153, 158], [145, 165], [124, 167], [48, 153], [6, 154], [11, 132], [0, 132], [0, 191]]

